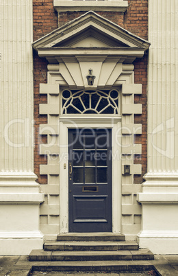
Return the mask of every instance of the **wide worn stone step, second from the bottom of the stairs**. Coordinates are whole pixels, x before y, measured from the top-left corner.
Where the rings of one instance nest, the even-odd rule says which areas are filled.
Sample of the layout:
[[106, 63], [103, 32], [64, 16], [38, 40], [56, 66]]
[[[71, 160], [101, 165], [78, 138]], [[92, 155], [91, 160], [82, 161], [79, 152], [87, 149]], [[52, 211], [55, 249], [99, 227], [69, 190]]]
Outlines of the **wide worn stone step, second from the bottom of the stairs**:
[[118, 260], [154, 260], [148, 249], [138, 251], [42, 251], [33, 250], [29, 254], [31, 262], [50, 261], [118, 261]]

